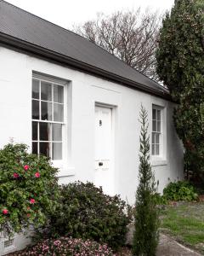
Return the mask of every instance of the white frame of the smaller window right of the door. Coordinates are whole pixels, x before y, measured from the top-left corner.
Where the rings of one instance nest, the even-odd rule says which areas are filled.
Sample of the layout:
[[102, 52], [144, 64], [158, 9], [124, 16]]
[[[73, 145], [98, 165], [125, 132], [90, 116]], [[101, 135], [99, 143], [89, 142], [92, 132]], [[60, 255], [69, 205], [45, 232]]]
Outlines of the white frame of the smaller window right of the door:
[[[161, 131], [153, 131], [153, 109], [161, 111]], [[152, 154], [152, 135], [153, 133], [158, 132], [160, 134], [159, 141], [159, 154]], [[152, 166], [162, 166], [167, 165], [166, 159], [166, 146], [167, 146], [167, 110], [165, 106], [160, 106], [157, 104], [152, 104], [151, 108], [151, 137], [150, 137], [150, 156]]]

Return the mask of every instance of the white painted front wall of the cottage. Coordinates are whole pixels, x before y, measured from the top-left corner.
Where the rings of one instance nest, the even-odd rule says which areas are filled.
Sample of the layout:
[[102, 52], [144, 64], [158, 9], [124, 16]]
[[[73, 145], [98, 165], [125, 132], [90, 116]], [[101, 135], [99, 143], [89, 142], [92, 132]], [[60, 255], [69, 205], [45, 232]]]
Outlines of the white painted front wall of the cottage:
[[[67, 107], [69, 113], [69, 155], [60, 183], [75, 180], [94, 182], [94, 106], [95, 102], [116, 106], [115, 183], [116, 194], [131, 204], [138, 184], [139, 110], [141, 103], [151, 119], [152, 104], [166, 112], [166, 156], [152, 160], [159, 192], [169, 179], [183, 177], [183, 148], [173, 127], [173, 103], [139, 90], [99, 79], [71, 68], [61, 67], [29, 55], [0, 47], [0, 148], [14, 138], [15, 143], [31, 146], [31, 78], [40, 72], [70, 80]], [[151, 129], [151, 122], [150, 122]], [[151, 130], [150, 130], [151, 131]]]

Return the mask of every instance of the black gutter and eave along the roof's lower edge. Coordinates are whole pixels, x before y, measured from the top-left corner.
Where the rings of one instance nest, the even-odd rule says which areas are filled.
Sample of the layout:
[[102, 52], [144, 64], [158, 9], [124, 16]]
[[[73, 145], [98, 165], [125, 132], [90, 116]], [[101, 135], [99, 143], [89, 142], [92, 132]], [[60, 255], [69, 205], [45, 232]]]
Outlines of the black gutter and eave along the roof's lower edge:
[[31, 44], [26, 41], [20, 40], [19, 38], [14, 38], [12, 36], [9, 36], [7, 34], [4, 34], [0, 32], [0, 43], [4, 44], [5, 46], [11, 46], [17, 49], [26, 50], [26, 52], [42, 56], [43, 58], [47, 58], [49, 60], [57, 61], [63, 65], [68, 65], [70, 67], [75, 67], [77, 69], [80, 69], [82, 71], [93, 73], [97, 76], [103, 77], [105, 79], [111, 79], [113, 81], [116, 81], [119, 84], [123, 84], [127, 87], [142, 90], [150, 95], [159, 96], [163, 99], [166, 99], [168, 101], [173, 102], [172, 97], [169, 93], [164, 92], [162, 90], [155, 90], [153, 88], [150, 88], [148, 86], [145, 86], [144, 84], [139, 84], [134, 82], [130, 79], [125, 79], [121, 76], [118, 76], [114, 73], [109, 73], [103, 69], [100, 69], [99, 67], [94, 67], [89, 65], [88, 63], [77, 61], [76, 59], [73, 59], [69, 56], [59, 54], [53, 50], [42, 48], [36, 44]]

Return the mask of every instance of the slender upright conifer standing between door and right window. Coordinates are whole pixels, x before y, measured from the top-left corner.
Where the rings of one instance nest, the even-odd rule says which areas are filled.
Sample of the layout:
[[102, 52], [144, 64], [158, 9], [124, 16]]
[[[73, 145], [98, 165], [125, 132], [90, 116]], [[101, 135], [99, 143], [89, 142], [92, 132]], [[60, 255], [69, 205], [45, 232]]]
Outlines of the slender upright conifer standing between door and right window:
[[156, 183], [150, 166], [150, 136], [148, 136], [147, 112], [140, 112], [140, 154], [139, 187], [135, 203], [135, 231], [133, 236], [133, 255], [156, 255], [158, 244], [158, 211], [154, 195]]

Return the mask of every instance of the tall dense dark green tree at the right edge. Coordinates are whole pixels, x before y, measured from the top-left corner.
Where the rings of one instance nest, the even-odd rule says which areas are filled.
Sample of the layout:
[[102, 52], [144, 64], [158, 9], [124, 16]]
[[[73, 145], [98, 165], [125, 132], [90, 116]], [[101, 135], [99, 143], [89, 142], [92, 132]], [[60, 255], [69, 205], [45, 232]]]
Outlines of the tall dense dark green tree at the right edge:
[[175, 0], [163, 20], [157, 73], [178, 102], [174, 122], [184, 143], [185, 159], [195, 173], [204, 173], [204, 2]]

